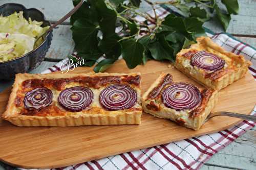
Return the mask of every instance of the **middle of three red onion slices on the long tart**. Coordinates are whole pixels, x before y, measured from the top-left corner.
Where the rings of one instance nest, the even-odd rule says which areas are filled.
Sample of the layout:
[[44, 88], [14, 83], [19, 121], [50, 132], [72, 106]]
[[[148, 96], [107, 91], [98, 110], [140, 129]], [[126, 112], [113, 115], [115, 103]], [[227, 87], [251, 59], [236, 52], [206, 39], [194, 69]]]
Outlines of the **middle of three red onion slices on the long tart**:
[[58, 96], [59, 104], [68, 111], [79, 112], [90, 106], [93, 92], [90, 88], [76, 86], [62, 90]]

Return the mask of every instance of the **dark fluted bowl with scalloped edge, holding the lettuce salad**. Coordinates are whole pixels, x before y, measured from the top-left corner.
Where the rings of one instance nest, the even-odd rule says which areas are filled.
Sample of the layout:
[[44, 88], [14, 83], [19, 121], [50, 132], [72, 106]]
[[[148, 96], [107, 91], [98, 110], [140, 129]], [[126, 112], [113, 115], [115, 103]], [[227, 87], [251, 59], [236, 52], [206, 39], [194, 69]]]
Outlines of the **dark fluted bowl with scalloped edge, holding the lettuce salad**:
[[[50, 26], [51, 23], [45, 20], [45, 16], [35, 8], [26, 9], [23, 5], [8, 3], [0, 6], [0, 15], [8, 16], [14, 12], [23, 11], [26, 19], [42, 21], [42, 27]], [[52, 41], [52, 31], [45, 37], [44, 41], [33, 51], [12, 60], [0, 62], [0, 79], [11, 80], [15, 74], [27, 72], [36, 68], [46, 56]]]

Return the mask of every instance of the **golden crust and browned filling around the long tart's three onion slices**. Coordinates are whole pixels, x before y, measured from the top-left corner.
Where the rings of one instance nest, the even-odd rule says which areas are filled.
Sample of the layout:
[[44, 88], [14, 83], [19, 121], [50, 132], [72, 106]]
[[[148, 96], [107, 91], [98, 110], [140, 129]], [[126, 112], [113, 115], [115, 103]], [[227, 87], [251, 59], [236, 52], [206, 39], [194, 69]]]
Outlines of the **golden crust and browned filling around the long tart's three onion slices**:
[[[138, 96], [136, 104], [130, 109], [107, 111], [99, 104], [99, 93], [111, 84], [125, 84], [132, 87]], [[70, 112], [57, 102], [58, 94], [74, 86], [89, 87], [94, 99], [89, 109]], [[47, 87], [53, 92], [51, 105], [40, 110], [24, 107], [25, 94], [36, 88]], [[2, 117], [17, 126], [82, 126], [82, 125], [124, 125], [140, 124], [140, 74], [17, 74], [10, 94], [6, 111]]]

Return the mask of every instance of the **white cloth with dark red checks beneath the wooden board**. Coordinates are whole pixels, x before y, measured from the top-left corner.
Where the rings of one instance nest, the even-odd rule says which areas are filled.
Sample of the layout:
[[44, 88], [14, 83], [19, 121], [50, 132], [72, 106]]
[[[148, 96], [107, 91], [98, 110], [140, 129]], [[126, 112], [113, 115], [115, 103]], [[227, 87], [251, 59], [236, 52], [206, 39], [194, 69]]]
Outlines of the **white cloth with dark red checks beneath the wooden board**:
[[[164, 17], [168, 12], [164, 9], [158, 9], [157, 13], [161, 17]], [[250, 60], [253, 64], [249, 67], [249, 70], [256, 80], [255, 48], [225, 33], [215, 35], [207, 33], [207, 35], [227, 51], [241, 54]], [[60, 70], [61, 65], [65, 65], [65, 62], [59, 62], [42, 73]], [[255, 108], [251, 114], [256, 115]], [[109, 156], [100, 160], [84, 162], [59, 169], [199, 169], [212, 155], [226, 147], [230, 142], [237, 139], [246, 130], [251, 129], [255, 125], [253, 122], [244, 120], [237, 126], [217, 133], [157, 145], [152, 148]]]

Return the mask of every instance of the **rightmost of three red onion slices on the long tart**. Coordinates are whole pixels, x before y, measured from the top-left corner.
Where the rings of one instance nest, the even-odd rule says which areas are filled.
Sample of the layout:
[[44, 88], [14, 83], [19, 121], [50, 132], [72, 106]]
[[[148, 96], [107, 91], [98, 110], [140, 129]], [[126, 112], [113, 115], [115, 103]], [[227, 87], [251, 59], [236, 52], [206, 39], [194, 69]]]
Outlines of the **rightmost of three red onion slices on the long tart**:
[[100, 92], [99, 100], [105, 110], [129, 109], [137, 102], [137, 93], [126, 85], [110, 85]]

